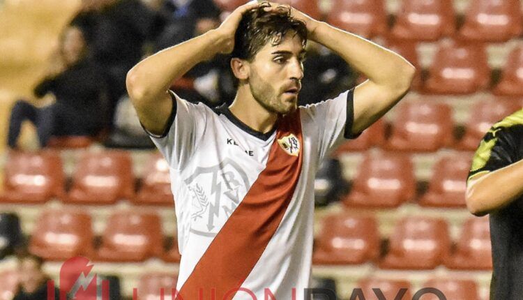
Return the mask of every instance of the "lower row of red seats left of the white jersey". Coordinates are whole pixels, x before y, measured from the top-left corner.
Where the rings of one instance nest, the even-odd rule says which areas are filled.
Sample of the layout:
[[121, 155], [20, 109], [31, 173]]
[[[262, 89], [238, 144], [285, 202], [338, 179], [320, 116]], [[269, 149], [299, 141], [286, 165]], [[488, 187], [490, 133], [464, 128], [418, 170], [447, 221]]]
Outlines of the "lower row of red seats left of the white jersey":
[[93, 246], [91, 216], [83, 211], [45, 211], [31, 234], [29, 251], [46, 260], [65, 260], [82, 255], [90, 260], [137, 262], [160, 257], [179, 262], [176, 230], [172, 246], [164, 248], [160, 217], [156, 213], [117, 211], [107, 220], [100, 246]]

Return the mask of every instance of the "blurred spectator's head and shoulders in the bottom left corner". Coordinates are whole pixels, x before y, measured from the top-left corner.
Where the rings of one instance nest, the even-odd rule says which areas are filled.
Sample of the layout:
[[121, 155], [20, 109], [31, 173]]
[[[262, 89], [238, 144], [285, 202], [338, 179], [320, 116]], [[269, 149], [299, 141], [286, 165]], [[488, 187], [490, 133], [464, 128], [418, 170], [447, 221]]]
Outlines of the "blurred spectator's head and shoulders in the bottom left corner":
[[[13, 300], [47, 299], [49, 277], [42, 271], [43, 259], [36, 255], [22, 255], [18, 258], [20, 285]], [[59, 299], [59, 290], [54, 287], [54, 299]]]

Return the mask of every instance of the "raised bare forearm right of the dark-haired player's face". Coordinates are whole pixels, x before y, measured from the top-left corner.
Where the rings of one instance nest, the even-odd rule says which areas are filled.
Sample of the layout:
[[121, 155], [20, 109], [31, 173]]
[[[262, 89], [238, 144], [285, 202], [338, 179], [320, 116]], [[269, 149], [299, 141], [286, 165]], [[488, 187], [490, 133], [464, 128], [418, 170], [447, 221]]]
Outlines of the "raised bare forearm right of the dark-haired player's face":
[[319, 22], [310, 38], [340, 55], [369, 80], [404, 93], [414, 77], [414, 66], [384, 47], [347, 31]]

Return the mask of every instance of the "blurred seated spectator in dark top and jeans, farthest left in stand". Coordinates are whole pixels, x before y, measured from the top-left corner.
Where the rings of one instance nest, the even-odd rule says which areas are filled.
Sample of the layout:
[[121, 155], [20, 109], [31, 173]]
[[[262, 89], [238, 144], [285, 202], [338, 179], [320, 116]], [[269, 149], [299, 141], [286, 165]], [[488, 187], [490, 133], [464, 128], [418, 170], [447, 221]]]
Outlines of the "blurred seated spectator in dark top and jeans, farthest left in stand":
[[26, 100], [18, 100], [11, 111], [8, 144], [17, 147], [22, 122], [36, 126], [41, 147], [51, 136], [96, 135], [103, 124], [100, 114], [103, 96], [103, 73], [86, 58], [87, 47], [82, 31], [68, 27], [61, 36], [60, 53], [55, 57], [43, 82], [34, 93], [41, 98], [48, 93], [56, 101], [52, 105], [36, 107]]

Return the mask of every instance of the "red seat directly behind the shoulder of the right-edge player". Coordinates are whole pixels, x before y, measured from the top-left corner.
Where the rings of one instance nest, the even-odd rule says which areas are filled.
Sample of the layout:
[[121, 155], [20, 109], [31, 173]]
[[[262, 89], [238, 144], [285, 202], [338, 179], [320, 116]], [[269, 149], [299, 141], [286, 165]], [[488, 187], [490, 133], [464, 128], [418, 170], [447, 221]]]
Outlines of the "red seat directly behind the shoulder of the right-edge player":
[[501, 119], [520, 109], [516, 101], [507, 99], [485, 99], [471, 107], [471, 114], [465, 125], [465, 133], [456, 144], [456, 149], [475, 151], [487, 131]]

